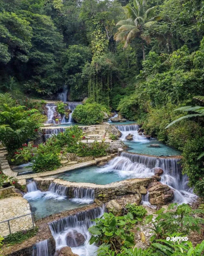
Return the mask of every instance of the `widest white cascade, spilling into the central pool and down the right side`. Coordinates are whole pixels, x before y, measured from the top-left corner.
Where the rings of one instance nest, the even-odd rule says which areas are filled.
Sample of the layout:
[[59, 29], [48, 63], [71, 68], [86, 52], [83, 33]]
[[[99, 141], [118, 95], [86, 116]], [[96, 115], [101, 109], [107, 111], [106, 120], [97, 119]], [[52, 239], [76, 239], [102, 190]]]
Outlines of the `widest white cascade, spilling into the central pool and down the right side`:
[[161, 175], [161, 183], [170, 186], [174, 191], [174, 201], [192, 203], [196, 196], [187, 185], [187, 175], [182, 175], [179, 158], [149, 157], [139, 154], [122, 152], [120, 157], [115, 157], [109, 163], [98, 169], [97, 172], [113, 172], [125, 178], [143, 178], [154, 175], [154, 167], [160, 167], [164, 173]]

